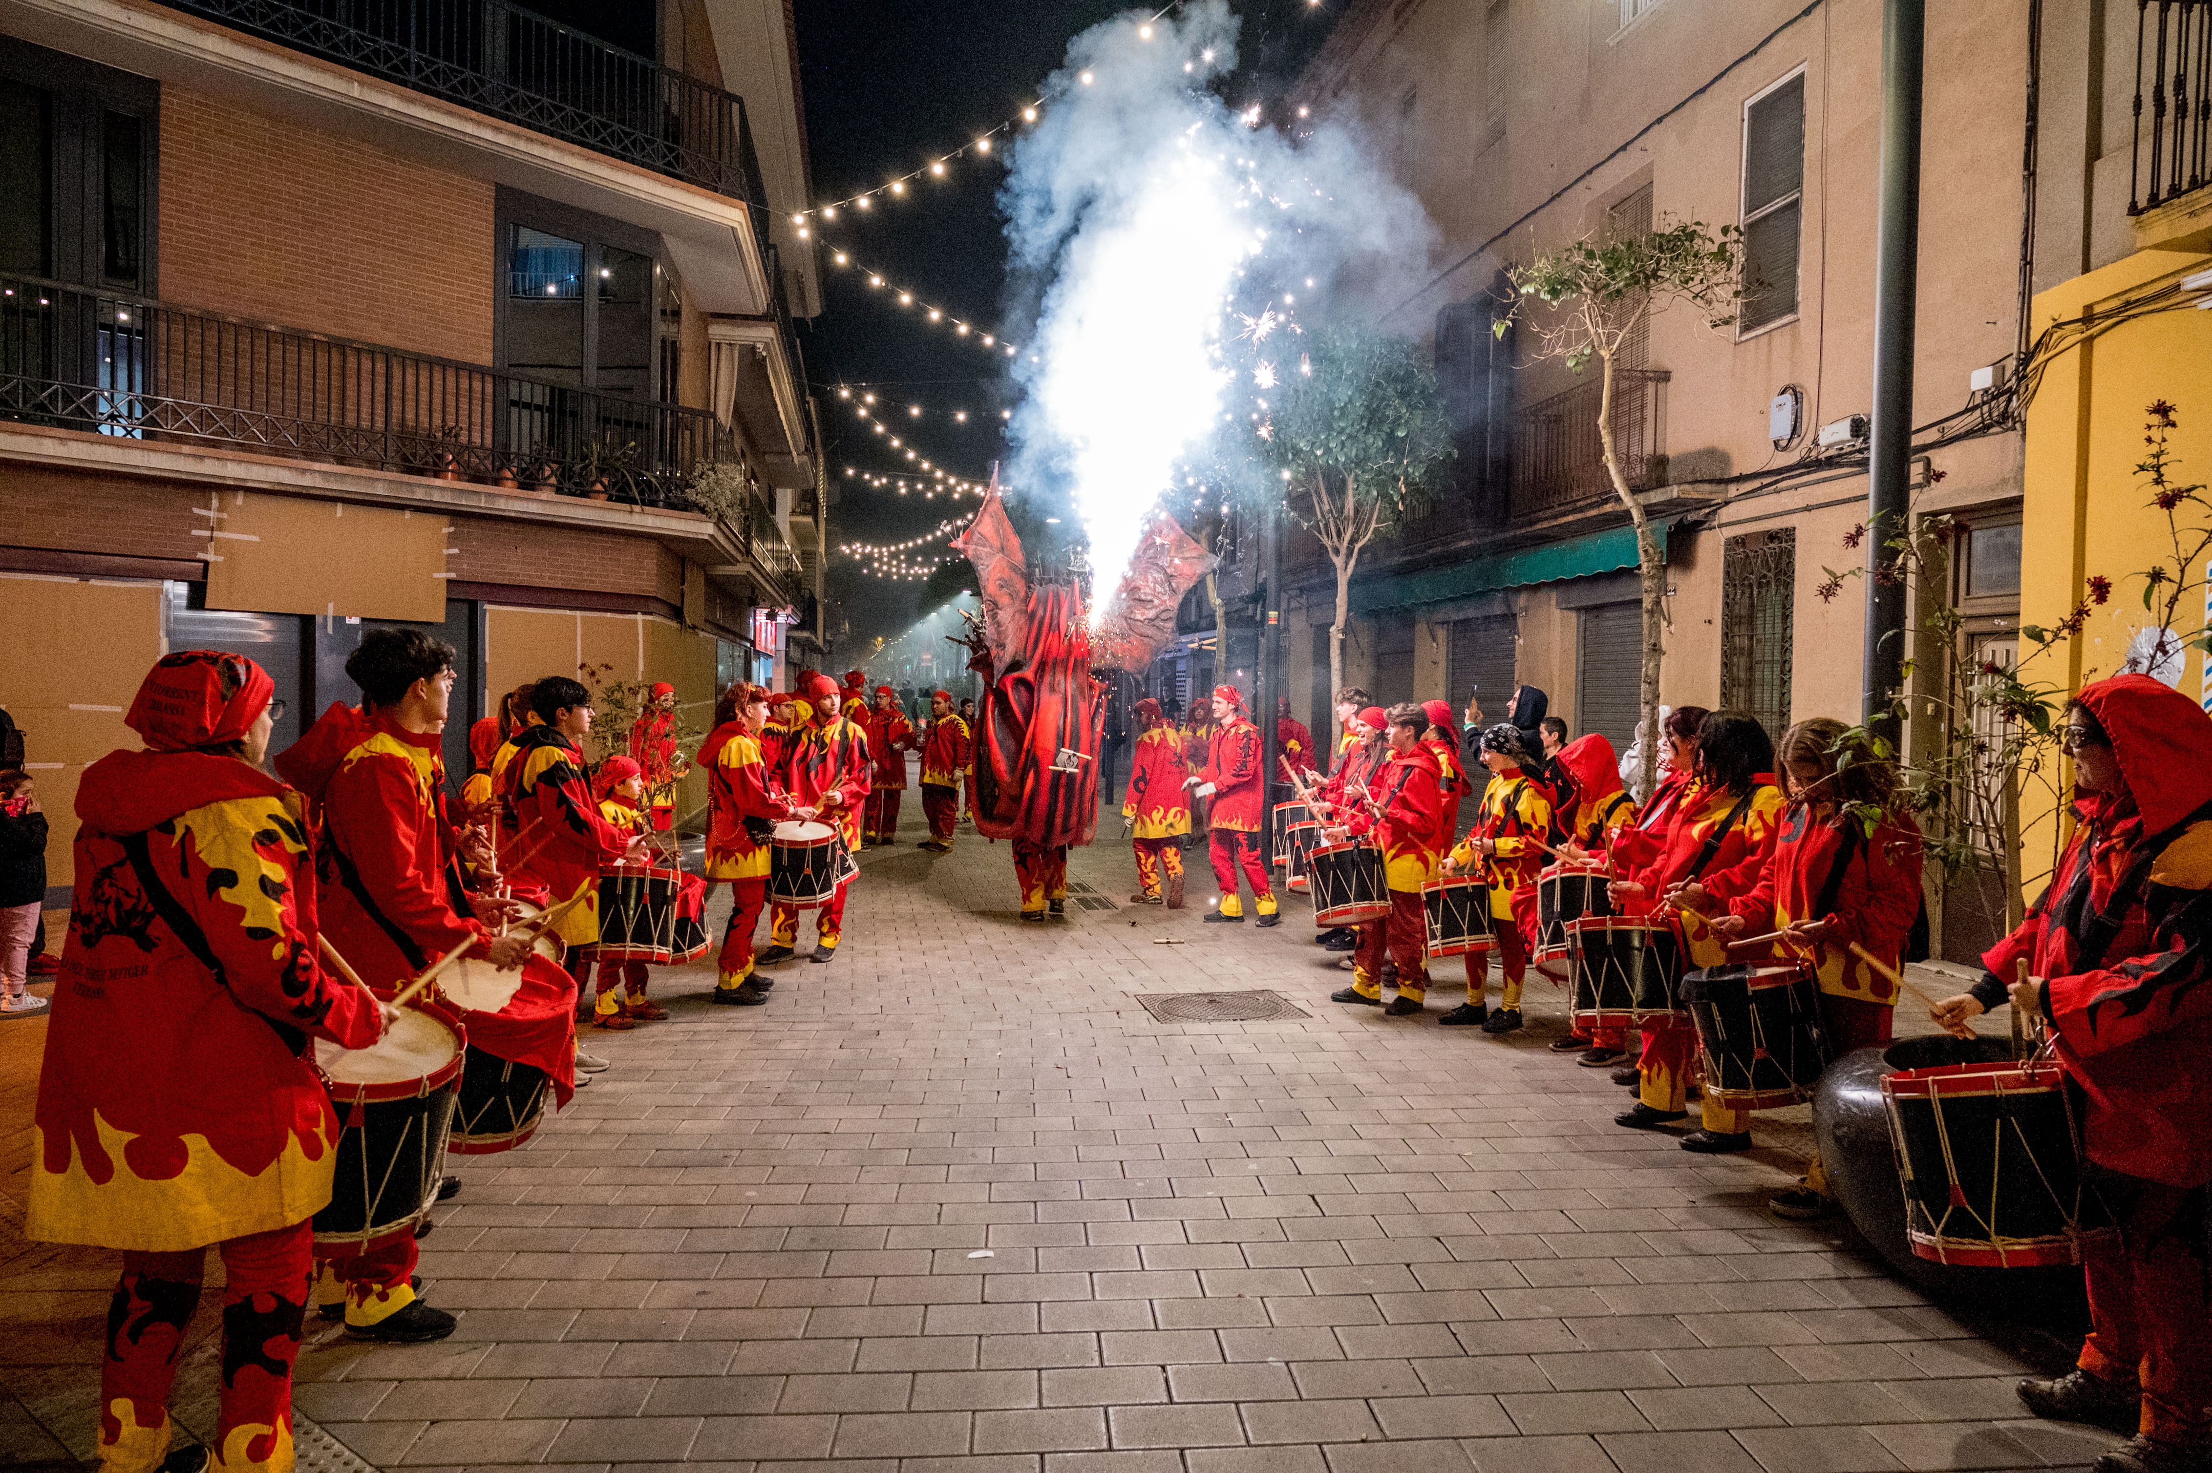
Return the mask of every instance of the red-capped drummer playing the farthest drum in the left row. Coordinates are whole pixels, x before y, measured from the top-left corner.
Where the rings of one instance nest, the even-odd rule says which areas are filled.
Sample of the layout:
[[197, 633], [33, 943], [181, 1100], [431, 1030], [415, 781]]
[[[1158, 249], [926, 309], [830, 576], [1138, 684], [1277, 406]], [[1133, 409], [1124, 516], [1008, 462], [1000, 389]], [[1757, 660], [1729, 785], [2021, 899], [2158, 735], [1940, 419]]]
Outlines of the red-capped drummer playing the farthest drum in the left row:
[[768, 1002], [776, 984], [752, 969], [752, 933], [768, 902], [768, 838], [785, 818], [814, 816], [794, 807], [770, 774], [754, 736], [768, 710], [768, 692], [759, 686], [730, 686], [714, 706], [714, 730], [699, 743], [708, 794], [706, 878], [710, 885], [730, 882], [730, 927], [714, 960], [714, 1002], [741, 1009]]

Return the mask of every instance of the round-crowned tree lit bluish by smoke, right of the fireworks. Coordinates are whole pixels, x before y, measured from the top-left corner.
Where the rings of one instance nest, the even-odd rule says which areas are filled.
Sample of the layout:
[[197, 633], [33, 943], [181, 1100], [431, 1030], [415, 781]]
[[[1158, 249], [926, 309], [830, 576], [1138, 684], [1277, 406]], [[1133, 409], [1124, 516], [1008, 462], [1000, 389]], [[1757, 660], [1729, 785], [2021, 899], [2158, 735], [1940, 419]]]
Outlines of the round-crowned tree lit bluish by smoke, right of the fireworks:
[[1243, 464], [1225, 473], [1248, 493], [1283, 495], [1329, 553], [1329, 690], [1343, 690], [1352, 573], [1369, 542], [1429, 504], [1453, 456], [1451, 425], [1413, 343], [1352, 327], [1305, 343], [1298, 365], [1267, 391], [1267, 418]]

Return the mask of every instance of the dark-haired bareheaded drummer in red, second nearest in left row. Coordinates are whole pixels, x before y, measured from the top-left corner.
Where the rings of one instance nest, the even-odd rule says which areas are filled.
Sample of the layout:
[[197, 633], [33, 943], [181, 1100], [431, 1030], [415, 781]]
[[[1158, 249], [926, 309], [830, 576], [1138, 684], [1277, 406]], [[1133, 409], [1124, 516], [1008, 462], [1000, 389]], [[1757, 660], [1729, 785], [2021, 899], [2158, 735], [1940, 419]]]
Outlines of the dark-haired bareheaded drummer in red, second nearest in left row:
[[[453, 650], [422, 630], [369, 630], [345, 659], [361, 708], [334, 701], [276, 756], [276, 772], [316, 807], [323, 827], [323, 936], [354, 971], [389, 997], [453, 947], [473, 944], [504, 971], [531, 958], [526, 936], [495, 938], [507, 900], [462, 889], [462, 834], [445, 812], [442, 736], [453, 694]], [[480, 834], [467, 849], [493, 878]], [[469, 913], [453, 909], [467, 896]], [[531, 964], [500, 1013], [467, 1013], [469, 1046], [533, 1064], [573, 1090], [575, 995], [546, 960]], [[345, 1285], [345, 1327], [380, 1340], [434, 1340], [453, 1316], [414, 1294], [416, 1241], [400, 1230], [330, 1254]]]

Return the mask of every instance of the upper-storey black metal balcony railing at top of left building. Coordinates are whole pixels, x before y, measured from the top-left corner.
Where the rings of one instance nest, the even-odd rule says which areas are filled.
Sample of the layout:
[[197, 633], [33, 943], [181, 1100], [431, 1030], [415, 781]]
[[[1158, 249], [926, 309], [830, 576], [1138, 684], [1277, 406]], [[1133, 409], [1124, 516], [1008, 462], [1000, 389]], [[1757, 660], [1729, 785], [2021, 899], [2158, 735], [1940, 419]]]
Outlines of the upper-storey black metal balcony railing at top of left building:
[[161, 0], [768, 208], [745, 102], [507, 0]]

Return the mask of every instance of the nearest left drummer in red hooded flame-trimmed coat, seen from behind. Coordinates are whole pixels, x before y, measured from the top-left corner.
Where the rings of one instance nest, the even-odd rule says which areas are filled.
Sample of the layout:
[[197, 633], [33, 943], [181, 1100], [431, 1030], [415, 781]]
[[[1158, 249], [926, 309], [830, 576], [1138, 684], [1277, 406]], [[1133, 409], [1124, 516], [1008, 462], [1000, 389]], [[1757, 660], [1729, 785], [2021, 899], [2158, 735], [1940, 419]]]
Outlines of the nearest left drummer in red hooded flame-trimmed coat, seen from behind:
[[270, 692], [241, 655], [168, 655], [124, 717], [146, 750], [102, 756], [77, 785], [24, 1234], [122, 1250], [102, 1473], [168, 1455], [208, 1247], [226, 1285], [206, 1466], [292, 1469], [307, 1219], [330, 1203], [338, 1141], [310, 1048], [367, 1048], [383, 1013], [316, 964], [305, 805], [259, 767], [281, 710]]

